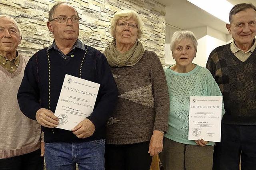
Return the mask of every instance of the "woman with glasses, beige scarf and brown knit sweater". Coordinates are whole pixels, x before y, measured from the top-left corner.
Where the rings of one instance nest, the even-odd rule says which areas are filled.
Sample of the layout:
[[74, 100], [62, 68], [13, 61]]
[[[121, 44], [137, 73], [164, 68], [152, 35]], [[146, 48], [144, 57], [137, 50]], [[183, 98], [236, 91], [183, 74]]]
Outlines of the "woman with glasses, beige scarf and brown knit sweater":
[[[107, 123], [106, 170], [149, 170], [162, 151], [168, 125], [168, 89], [162, 64], [138, 41], [143, 34], [137, 12], [115, 14], [114, 38], [105, 49], [118, 87], [116, 110]], [[151, 155], [151, 156], [150, 156]]]

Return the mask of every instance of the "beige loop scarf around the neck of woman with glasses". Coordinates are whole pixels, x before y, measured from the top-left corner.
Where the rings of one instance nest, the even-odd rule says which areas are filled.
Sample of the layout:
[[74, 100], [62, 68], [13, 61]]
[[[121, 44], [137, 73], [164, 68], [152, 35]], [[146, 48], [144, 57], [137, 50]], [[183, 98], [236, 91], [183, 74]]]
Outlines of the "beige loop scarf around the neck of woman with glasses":
[[105, 49], [105, 55], [108, 64], [111, 67], [133, 66], [137, 64], [145, 50], [142, 43], [136, 41], [129, 51], [121, 53], [116, 49], [116, 40], [114, 39]]

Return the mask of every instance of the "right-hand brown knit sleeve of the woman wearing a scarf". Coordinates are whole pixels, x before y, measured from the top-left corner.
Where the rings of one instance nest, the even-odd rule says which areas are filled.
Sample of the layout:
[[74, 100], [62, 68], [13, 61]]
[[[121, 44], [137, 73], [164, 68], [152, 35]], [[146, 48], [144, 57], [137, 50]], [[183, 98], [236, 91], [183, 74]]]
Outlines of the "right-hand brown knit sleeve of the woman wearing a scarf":
[[153, 130], [163, 130], [166, 132], [170, 108], [166, 77], [162, 64], [154, 52], [152, 52], [152, 59], [150, 74], [156, 111]]

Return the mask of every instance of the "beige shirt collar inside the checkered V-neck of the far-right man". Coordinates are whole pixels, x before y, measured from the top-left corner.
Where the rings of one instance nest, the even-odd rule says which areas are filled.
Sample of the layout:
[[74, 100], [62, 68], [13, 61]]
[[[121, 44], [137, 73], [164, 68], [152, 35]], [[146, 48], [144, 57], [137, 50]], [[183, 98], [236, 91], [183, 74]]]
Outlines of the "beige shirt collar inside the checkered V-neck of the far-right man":
[[236, 46], [236, 44], [234, 43], [234, 41], [230, 44], [230, 49], [232, 51], [232, 53], [234, 53], [234, 55], [240, 59], [241, 61], [246, 61], [246, 59], [248, 59], [250, 57], [250, 55], [252, 54], [252, 52], [254, 51], [255, 47], [256, 47], [256, 41], [254, 38], [254, 43], [252, 45], [252, 47], [250, 47], [246, 52], [242, 51], [242, 49], [238, 48]]

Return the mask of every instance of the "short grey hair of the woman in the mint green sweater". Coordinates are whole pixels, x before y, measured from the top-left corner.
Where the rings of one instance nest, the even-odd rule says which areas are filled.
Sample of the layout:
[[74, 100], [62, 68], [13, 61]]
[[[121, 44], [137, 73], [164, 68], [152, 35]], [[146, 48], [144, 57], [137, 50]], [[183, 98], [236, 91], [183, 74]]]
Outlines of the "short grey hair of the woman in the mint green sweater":
[[176, 42], [180, 42], [181, 40], [183, 40], [185, 38], [187, 38], [188, 40], [190, 40], [193, 43], [194, 48], [197, 51], [196, 36], [193, 32], [187, 31], [187, 30], [174, 32], [174, 34], [172, 35], [172, 38], [170, 40], [170, 49], [171, 49], [171, 51], [173, 52]]

